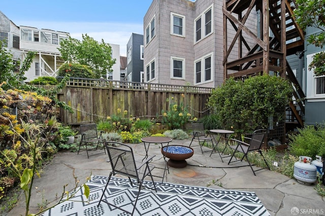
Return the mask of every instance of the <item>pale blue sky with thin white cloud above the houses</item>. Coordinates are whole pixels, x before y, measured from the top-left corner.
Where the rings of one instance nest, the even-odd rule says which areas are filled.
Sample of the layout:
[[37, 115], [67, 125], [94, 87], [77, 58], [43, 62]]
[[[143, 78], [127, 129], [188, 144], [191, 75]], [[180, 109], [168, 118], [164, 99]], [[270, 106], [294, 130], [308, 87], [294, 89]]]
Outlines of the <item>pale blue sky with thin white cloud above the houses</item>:
[[126, 56], [126, 45], [132, 33], [143, 34], [143, 18], [152, 0], [56, 0], [2, 1], [2, 11], [17, 26], [46, 28], [70, 33], [82, 40], [87, 34], [96, 41], [120, 45]]

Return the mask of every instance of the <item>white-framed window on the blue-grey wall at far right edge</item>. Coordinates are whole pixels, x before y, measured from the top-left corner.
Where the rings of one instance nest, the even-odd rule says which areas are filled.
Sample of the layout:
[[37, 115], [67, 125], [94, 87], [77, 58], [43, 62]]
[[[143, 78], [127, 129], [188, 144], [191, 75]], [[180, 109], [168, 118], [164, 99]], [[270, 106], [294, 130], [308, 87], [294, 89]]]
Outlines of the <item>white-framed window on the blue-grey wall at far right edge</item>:
[[[307, 58], [307, 66], [313, 60], [315, 53], [309, 54]], [[311, 99], [321, 99], [325, 101], [325, 76], [315, 76], [314, 69], [307, 69], [307, 99], [312, 102]]]

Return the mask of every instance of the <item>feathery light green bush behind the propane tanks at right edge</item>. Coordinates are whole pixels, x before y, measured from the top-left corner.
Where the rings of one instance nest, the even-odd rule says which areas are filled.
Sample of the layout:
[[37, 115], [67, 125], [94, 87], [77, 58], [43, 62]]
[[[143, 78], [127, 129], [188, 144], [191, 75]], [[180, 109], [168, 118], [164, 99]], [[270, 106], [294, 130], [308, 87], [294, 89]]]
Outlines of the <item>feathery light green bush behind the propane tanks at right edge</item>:
[[315, 159], [316, 155], [325, 157], [325, 127], [324, 125], [305, 126], [298, 129], [299, 133], [290, 135], [289, 150], [295, 156], [307, 156]]

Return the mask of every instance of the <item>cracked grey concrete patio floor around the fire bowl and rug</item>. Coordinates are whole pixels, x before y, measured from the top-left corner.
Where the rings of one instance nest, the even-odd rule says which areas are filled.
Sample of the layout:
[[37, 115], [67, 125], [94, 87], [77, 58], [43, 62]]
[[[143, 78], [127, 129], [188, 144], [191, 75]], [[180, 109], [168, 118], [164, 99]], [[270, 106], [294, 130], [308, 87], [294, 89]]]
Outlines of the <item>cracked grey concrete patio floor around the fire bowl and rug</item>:
[[[189, 146], [189, 143], [190, 140], [173, 140], [170, 145]], [[130, 145], [139, 160], [144, 158], [143, 143]], [[165, 166], [160, 148], [160, 144], [151, 144], [148, 151], [149, 156], [156, 155], [153, 158], [156, 166], [154, 175], [159, 176], [164, 172], [159, 168]], [[250, 167], [245, 166], [246, 162], [228, 165], [229, 158], [224, 158], [222, 163], [219, 154], [212, 154], [209, 157], [210, 153], [203, 155], [200, 147], [196, 146], [193, 149], [194, 155], [186, 160], [188, 165], [185, 168], [170, 167], [170, 173], [165, 176], [164, 182], [255, 192], [271, 215], [325, 215], [325, 199], [316, 193], [315, 185], [300, 184], [296, 179], [290, 179], [268, 169], [257, 171], [254, 176]], [[69, 184], [66, 190], [74, 188], [75, 178], [84, 183], [90, 174], [108, 176], [111, 166], [107, 160], [107, 154], [99, 154], [87, 159], [85, 151], [79, 154], [67, 151], [57, 153], [52, 163], [44, 168], [41, 178], [36, 178], [34, 181], [30, 213], [38, 212], [38, 204], [45, 200], [49, 202], [48, 206], [54, 205], [63, 192], [63, 185]], [[156, 177], [155, 181], [159, 182], [161, 178]], [[294, 211], [291, 213], [293, 208], [298, 208], [299, 213]], [[23, 215], [24, 211], [24, 195], [21, 194], [17, 206], [8, 215]]]

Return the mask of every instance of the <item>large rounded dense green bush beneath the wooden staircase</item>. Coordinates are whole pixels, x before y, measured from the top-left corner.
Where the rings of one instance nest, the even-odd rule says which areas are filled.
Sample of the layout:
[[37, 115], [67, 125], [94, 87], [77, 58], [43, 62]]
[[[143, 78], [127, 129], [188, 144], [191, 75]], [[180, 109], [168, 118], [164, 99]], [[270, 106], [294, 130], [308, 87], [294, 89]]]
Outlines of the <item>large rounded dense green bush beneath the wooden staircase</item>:
[[284, 107], [292, 92], [291, 84], [276, 76], [256, 76], [244, 82], [228, 79], [212, 90], [208, 105], [220, 116], [224, 129], [233, 126], [236, 132], [249, 132], [268, 128], [272, 118], [284, 121]]

